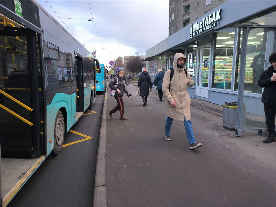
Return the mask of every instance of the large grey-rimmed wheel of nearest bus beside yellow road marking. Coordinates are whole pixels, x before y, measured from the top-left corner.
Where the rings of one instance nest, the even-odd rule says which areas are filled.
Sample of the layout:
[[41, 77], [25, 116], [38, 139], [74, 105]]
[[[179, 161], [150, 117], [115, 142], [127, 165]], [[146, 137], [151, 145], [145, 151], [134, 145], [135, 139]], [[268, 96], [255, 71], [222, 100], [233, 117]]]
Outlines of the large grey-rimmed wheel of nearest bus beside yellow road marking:
[[54, 131], [54, 154], [59, 154], [65, 135], [65, 124], [62, 112], [59, 110], [55, 117], [55, 131]]

